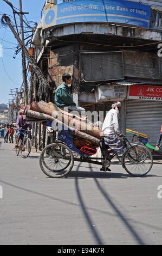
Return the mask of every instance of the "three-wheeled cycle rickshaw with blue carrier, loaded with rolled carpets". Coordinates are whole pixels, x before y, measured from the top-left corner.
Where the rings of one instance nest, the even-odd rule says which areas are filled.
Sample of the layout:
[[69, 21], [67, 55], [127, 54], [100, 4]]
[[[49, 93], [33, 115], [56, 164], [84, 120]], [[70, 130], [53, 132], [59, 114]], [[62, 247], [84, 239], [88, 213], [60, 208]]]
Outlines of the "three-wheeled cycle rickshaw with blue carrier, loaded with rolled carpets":
[[[72, 130], [59, 131], [58, 141], [47, 145], [40, 156], [40, 167], [44, 174], [51, 178], [67, 177], [70, 170], [73, 169], [74, 161], [99, 164], [107, 170], [111, 165], [112, 159], [117, 157], [122, 167], [132, 176], [144, 176], [150, 172], [153, 165], [153, 158], [150, 150], [138, 143], [130, 143], [126, 136], [123, 140], [122, 156], [115, 152], [105, 154], [103, 138], [98, 147], [101, 149], [102, 157], [93, 157], [96, 149], [85, 142], [85, 146], [77, 147], [76, 142], [82, 139], [76, 137]], [[82, 140], [83, 141], [83, 140]], [[77, 155], [77, 157], [76, 157]]]

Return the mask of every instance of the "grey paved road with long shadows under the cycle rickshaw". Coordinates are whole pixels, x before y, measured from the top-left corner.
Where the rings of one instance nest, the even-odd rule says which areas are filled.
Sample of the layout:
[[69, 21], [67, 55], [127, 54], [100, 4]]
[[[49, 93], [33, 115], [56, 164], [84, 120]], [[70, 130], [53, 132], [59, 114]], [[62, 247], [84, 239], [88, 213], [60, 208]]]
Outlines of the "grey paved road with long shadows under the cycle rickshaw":
[[68, 179], [41, 172], [38, 155], [0, 145], [0, 245], [151, 245], [162, 241], [162, 161], [145, 178], [75, 163]]

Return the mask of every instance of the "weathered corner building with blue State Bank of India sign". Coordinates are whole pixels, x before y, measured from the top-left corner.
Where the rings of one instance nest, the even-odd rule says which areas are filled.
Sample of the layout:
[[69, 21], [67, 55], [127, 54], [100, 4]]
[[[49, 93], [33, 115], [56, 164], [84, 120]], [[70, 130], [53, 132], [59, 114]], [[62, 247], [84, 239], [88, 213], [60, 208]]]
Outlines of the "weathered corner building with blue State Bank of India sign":
[[68, 72], [80, 106], [104, 118], [120, 100], [122, 131], [146, 133], [155, 145], [162, 123], [162, 2], [49, 2], [33, 38], [49, 93]]

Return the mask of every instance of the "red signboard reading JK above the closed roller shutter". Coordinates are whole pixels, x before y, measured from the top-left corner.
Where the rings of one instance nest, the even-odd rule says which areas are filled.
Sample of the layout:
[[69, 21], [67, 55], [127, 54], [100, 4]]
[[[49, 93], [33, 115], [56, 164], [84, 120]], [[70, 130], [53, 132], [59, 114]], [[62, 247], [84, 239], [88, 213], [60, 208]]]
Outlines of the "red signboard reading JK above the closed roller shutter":
[[162, 101], [162, 86], [130, 86], [128, 99]]

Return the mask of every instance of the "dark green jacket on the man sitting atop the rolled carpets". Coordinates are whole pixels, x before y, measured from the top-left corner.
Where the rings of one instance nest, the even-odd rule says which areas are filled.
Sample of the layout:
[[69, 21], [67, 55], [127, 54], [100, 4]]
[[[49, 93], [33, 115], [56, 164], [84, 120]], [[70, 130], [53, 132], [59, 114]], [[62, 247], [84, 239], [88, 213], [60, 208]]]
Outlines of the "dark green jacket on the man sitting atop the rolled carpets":
[[56, 89], [55, 104], [57, 107], [76, 106], [65, 82], [62, 82]]

